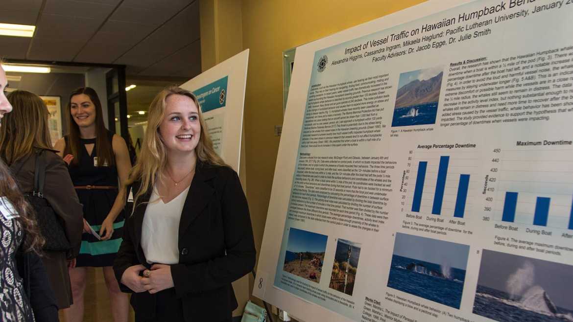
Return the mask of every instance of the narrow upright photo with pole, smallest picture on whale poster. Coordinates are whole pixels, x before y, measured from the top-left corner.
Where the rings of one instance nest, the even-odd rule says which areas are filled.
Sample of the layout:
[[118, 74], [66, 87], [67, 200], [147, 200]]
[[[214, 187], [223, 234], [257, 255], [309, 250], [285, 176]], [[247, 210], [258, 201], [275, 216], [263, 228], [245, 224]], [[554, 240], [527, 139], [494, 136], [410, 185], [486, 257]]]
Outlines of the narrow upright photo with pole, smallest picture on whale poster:
[[362, 245], [359, 243], [338, 239], [329, 288], [352, 295], [356, 271], [358, 270], [360, 248]]

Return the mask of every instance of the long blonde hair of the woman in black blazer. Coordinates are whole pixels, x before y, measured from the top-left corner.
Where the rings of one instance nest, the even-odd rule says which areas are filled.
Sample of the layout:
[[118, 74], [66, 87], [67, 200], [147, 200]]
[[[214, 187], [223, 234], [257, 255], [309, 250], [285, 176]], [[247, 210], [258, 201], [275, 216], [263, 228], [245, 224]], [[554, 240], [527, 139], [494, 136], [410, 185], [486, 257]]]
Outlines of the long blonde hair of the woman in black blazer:
[[167, 97], [171, 95], [187, 96], [197, 105], [199, 124], [201, 124], [199, 143], [197, 143], [197, 147], [195, 147], [197, 163], [202, 163], [204, 166], [227, 166], [213, 148], [213, 142], [211, 142], [209, 133], [206, 131], [207, 127], [205, 120], [203, 120], [203, 113], [201, 112], [201, 106], [199, 105], [197, 97], [186, 89], [175, 86], [167, 87], [159, 92], [151, 102], [148, 111], [147, 129], [143, 138], [138, 161], [129, 172], [129, 178], [127, 182], [125, 182], [125, 185], [129, 186], [129, 184], [135, 181], [141, 181], [139, 190], [136, 193], [134, 191], [134, 210], [139, 197], [147, 193], [147, 191], [150, 191], [151, 187], [155, 186], [157, 175], [163, 173], [163, 170], [167, 166], [167, 151], [159, 136], [159, 125], [165, 116]]

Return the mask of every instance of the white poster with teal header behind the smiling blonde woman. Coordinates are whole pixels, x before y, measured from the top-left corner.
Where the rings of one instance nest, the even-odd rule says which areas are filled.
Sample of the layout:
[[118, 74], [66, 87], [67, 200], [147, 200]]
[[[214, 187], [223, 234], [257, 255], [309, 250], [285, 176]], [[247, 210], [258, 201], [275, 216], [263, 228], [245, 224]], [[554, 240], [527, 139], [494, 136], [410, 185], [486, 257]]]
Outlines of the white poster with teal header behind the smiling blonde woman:
[[239, 172], [249, 49], [181, 85], [201, 105], [217, 153]]

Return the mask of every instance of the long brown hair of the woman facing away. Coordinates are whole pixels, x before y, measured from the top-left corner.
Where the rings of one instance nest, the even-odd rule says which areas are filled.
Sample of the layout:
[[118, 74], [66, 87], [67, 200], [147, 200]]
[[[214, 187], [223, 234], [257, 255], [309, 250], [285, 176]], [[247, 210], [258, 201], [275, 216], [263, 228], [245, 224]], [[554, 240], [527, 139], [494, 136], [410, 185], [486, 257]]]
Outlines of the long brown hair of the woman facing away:
[[52, 149], [48, 128], [48, 107], [42, 99], [27, 91], [7, 95], [13, 107], [0, 127], [0, 158], [8, 166], [34, 153], [34, 148]]

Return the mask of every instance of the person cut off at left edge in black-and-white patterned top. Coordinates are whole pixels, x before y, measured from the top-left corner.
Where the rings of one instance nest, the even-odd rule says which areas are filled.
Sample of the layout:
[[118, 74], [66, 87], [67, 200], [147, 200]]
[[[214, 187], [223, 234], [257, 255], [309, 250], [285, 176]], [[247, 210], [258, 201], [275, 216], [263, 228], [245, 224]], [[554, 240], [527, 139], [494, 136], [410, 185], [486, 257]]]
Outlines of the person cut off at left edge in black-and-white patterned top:
[[[0, 128], [12, 110], [0, 60]], [[44, 244], [34, 213], [0, 160], [0, 321], [58, 321], [54, 293], [38, 252]]]

